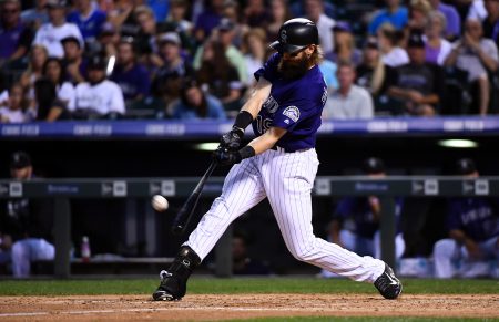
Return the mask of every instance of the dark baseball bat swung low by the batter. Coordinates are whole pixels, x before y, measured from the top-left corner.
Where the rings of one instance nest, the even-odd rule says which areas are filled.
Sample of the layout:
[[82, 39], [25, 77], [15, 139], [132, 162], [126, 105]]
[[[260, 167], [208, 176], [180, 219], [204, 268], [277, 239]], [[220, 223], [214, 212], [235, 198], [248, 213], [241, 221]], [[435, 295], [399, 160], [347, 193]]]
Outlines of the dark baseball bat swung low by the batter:
[[207, 168], [204, 176], [197, 183], [197, 186], [192, 191], [191, 196], [189, 196], [187, 200], [184, 202], [180, 211], [176, 214], [172, 224], [172, 232], [173, 235], [182, 235], [185, 231], [185, 228], [191, 220], [192, 215], [197, 206], [197, 201], [200, 200], [201, 193], [203, 191], [204, 184], [212, 175], [213, 170], [216, 168], [216, 160], [212, 160], [210, 167]]

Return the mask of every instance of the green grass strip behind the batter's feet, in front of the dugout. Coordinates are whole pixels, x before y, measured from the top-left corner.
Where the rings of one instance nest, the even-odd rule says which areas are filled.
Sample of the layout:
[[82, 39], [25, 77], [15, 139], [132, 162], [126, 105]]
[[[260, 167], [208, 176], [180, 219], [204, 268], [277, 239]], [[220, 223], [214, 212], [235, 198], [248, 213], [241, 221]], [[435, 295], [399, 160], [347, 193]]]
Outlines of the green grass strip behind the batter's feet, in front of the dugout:
[[[499, 280], [403, 279], [405, 294], [499, 294]], [[71, 294], [151, 294], [159, 280], [3, 280], [0, 295]], [[189, 281], [191, 294], [240, 293], [377, 293], [368, 283], [345, 279], [315, 278], [233, 278], [194, 277]]]

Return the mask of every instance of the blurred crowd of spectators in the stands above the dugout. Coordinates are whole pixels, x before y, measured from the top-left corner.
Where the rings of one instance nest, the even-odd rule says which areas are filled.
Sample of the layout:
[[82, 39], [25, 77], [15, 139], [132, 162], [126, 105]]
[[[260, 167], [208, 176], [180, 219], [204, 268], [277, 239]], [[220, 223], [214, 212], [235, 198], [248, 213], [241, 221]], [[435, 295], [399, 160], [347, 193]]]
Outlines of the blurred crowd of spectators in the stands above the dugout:
[[497, 0], [2, 0], [0, 121], [232, 117], [294, 17], [325, 118], [499, 110]]

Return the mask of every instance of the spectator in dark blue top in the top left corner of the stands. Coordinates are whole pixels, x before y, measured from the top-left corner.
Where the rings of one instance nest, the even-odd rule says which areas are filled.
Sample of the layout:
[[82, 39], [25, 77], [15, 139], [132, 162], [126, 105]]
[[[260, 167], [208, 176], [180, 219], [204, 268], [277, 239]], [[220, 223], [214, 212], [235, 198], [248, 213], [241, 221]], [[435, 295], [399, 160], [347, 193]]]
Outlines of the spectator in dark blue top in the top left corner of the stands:
[[0, 4], [0, 63], [26, 55], [33, 39], [33, 32], [21, 22], [21, 2], [3, 0]]

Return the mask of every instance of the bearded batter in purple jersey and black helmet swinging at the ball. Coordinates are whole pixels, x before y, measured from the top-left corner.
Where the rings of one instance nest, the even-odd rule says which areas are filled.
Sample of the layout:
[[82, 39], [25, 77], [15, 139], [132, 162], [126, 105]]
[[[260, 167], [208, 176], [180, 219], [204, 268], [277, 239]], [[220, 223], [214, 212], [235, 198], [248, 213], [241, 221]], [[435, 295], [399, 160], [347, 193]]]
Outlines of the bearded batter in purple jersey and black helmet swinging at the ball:
[[[327, 97], [317, 66], [322, 58], [317, 27], [303, 18], [288, 20], [271, 46], [277, 53], [255, 73], [257, 83], [252, 96], [214, 153], [221, 165], [234, 165], [222, 195], [169, 270], [160, 273], [161, 283], [153, 299], [180, 300], [192, 271], [228, 225], [265, 198], [296, 259], [355, 281], [374, 283], [383, 297], [396, 299], [401, 283], [385, 262], [360, 257], [313, 233], [310, 193], [319, 164], [315, 143]], [[249, 124], [256, 138], [241, 147]]]

